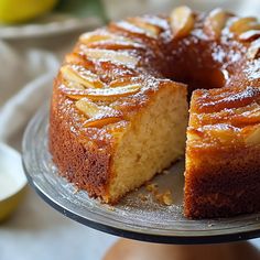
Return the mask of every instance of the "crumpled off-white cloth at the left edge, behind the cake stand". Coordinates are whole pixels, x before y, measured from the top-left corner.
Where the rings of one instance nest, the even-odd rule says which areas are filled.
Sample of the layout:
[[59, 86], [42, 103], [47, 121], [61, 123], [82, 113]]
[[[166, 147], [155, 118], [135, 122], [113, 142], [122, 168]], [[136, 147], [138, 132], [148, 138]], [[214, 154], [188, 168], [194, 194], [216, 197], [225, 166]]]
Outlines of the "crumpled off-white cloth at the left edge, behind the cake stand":
[[[57, 57], [46, 51], [17, 50], [0, 42], [0, 142], [9, 142], [47, 99], [57, 72]], [[6, 100], [6, 102], [4, 102]]]

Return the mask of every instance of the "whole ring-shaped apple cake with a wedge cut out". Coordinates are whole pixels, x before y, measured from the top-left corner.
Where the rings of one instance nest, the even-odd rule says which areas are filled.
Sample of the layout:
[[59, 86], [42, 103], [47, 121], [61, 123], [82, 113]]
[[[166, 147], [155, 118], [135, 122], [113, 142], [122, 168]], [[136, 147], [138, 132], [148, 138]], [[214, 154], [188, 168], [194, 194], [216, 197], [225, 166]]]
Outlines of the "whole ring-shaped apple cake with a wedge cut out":
[[83, 34], [54, 80], [61, 174], [117, 203], [184, 155], [191, 99], [185, 216], [260, 210], [259, 36], [256, 18], [187, 7]]

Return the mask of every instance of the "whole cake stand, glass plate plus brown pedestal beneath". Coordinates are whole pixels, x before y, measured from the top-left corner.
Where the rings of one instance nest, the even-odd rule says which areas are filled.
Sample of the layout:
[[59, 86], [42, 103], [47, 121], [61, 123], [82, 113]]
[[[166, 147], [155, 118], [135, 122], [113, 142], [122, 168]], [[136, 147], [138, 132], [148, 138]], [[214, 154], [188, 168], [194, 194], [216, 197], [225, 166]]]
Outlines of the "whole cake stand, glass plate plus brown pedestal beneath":
[[[52, 161], [47, 115], [47, 106], [40, 109], [23, 139], [23, 166], [31, 186], [53, 208], [73, 220], [119, 237], [152, 242], [119, 240], [105, 259], [260, 259], [259, 251], [241, 242], [260, 237], [260, 213], [203, 220], [183, 216], [183, 162], [153, 180], [162, 191], [172, 191], [174, 204], [169, 207], [156, 203], [145, 187], [128, 194], [115, 207], [89, 198], [84, 191], [77, 192], [58, 175]], [[240, 242], [225, 243], [231, 241]]]

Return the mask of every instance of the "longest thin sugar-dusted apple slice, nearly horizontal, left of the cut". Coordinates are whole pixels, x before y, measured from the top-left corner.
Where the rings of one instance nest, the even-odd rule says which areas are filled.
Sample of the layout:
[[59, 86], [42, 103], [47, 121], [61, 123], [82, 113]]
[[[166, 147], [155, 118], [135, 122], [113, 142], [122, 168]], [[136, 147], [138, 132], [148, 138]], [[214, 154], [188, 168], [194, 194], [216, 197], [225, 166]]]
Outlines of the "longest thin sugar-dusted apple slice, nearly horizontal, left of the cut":
[[113, 87], [113, 88], [88, 88], [84, 90], [71, 89], [65, 86], [61, 90], [72, 99], [82, 99], [87, 97], [91, 100], [113, 100], [115, 98], [133, 95], [140, 90], [141, 86], [138, 84]]

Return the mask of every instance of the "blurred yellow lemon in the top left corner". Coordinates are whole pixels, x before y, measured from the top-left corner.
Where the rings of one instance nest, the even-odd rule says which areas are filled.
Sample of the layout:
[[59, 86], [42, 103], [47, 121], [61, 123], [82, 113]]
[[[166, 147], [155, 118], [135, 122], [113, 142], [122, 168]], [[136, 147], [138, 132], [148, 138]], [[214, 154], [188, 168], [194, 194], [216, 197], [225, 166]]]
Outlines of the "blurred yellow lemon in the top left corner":
[[0, 0], [0, 22], [21, 23], [51, 11], [57, 0]]

